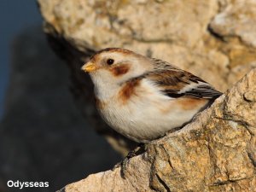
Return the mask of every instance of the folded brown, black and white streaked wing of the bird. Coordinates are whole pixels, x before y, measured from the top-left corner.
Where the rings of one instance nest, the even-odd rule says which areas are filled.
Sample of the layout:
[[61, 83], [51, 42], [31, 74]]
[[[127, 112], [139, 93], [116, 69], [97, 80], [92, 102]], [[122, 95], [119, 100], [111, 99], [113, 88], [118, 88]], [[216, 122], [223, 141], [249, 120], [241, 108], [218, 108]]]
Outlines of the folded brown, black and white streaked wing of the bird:
[[211, 84], [195, 75], [174, 67], [166, 61], [152, 60], [155, 64], [154, 71], [147, 73], [145, 78], [159, 86], [166, 96], [215, 99], [222, 95]]

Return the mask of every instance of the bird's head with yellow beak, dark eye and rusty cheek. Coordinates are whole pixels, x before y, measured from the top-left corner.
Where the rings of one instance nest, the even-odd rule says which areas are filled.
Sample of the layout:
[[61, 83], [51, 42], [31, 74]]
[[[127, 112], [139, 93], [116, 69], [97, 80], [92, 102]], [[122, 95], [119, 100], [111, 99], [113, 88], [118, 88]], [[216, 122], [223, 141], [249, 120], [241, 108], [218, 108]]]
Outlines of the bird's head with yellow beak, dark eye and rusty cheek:
[[153, 68], [150, 59], [128, 49], [107, 48], [92, 55], [82, 70], [90, 74], [93, 82], [122, 84]]

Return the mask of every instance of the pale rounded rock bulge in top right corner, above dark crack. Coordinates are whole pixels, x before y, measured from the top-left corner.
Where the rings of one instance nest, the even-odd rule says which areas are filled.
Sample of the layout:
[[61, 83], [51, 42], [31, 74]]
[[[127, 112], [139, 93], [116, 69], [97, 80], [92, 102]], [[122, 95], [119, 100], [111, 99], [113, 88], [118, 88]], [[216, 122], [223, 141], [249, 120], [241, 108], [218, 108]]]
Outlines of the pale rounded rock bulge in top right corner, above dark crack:
[[223, 38], [241, 38], [248, 46], [256, 48], [256, 1], [235, 0], [223, 6], [210, 26]]

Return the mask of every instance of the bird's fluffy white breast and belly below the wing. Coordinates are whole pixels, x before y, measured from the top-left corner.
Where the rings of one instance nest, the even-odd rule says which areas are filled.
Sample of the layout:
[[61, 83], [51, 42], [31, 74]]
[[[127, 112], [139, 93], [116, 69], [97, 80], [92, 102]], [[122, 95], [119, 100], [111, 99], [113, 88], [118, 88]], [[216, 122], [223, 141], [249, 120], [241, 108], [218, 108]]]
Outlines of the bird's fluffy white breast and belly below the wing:
[[203, 105], [184, 110], [177, 104], [177, 99], [163, 95], [147, 79], [142, 80], [128, 102], [121, 102], [118, 93], [114, 95], [99, 108], [102, 118], [115, 131], [137, 143], [148, 143], [183, 125]]

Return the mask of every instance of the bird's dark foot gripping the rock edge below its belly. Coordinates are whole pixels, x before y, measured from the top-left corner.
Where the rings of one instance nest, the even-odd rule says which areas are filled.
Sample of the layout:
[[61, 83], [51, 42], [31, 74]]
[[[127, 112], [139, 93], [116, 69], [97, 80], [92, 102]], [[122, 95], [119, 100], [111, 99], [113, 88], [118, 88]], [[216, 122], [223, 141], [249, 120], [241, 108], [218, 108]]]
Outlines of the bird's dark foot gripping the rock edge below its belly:
[[116, 168], [121, 167], [121, 177], [125, 178], [125, 173], [126, 173], [126, 167], [127, 167], [127, 163], [129, 162], [129, 160], [132, 157], [137, 156], [138, 154], [143, 154], [146, 150], [146, 145], [143, 143], [140, 143], [136, 148], [134, 148], [133, 150], [131, 150], [126, 156], [124, 160], [121, 160], [118, 164], [116, 164], [115, 166], [113, 166], [113, 170], [115, 170]]

